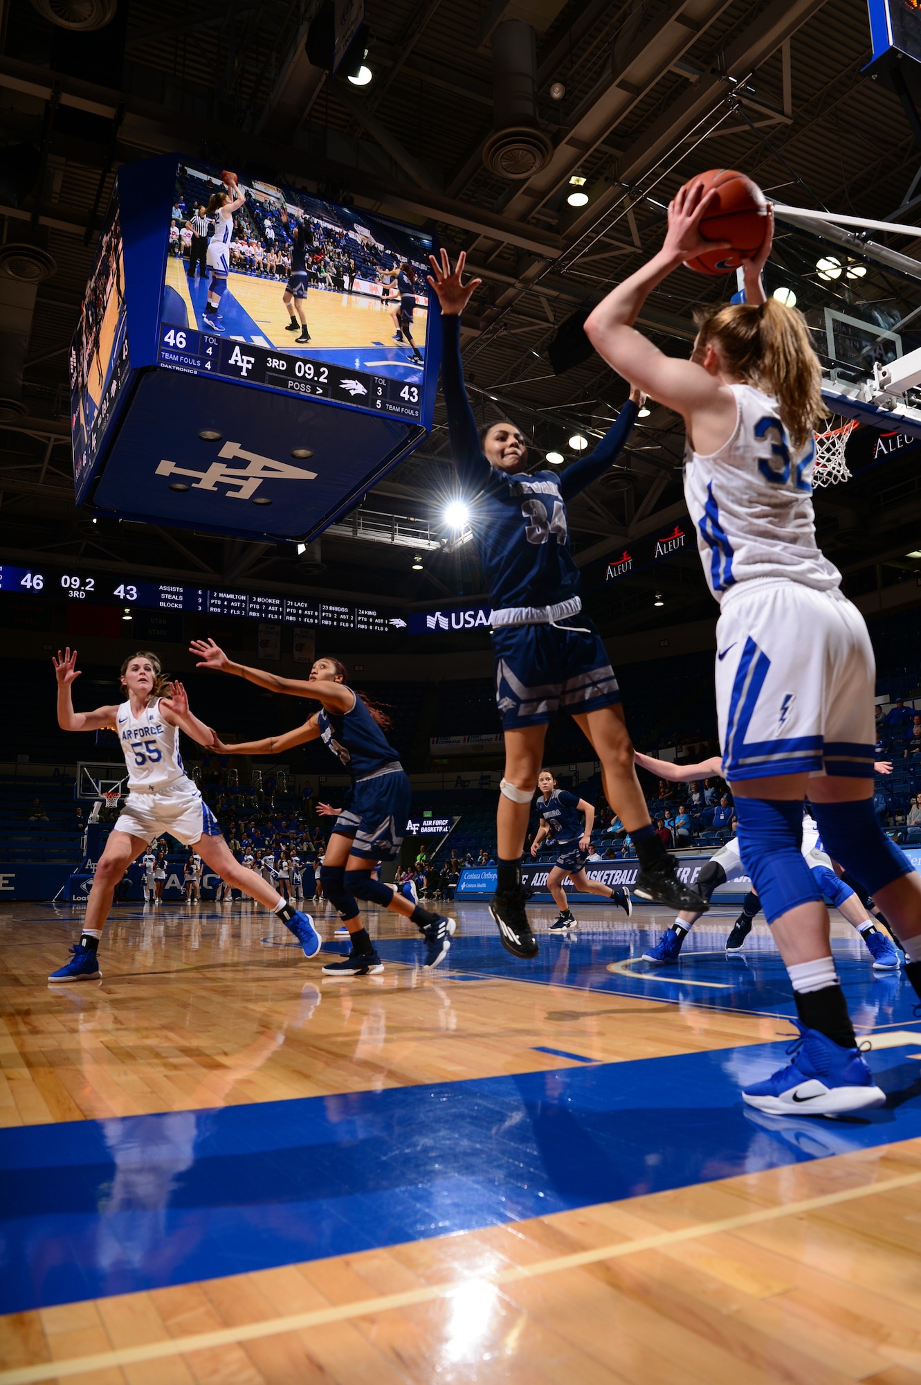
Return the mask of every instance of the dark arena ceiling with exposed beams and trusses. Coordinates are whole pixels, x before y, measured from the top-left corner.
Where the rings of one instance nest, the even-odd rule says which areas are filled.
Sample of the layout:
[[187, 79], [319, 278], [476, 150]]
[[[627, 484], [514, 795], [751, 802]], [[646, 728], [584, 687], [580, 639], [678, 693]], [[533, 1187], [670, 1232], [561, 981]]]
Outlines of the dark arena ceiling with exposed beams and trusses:
[[[548, 346], [658, 247], [664, 206], [689, 176], [736, 166], [791, 204], [881, 217], [906, 201], [921, 165], [910, 115], [862, 71], [864, 0], [366, 0], [373, 80], [362, 89], [308, 62], [318, 0], [120, 0], [91, 35], [55, 26], [43, 8], [50, 0], [6, 0], [0, 57], [4, 242], [33, 241], [57, 263], [32, 323], [26, 417], [0, 432], [0, 560], [10, 562], [40, 553], [373, 601], [386, 589], [407, 608], [483, 594], [469, 546], [426, 555], [415, 572], [408, 548], [384, 543], [326, 535], [321, 554], [297, 560], [290, 544], [94, 524], [75, 508], [66, 348], [124, 161], [181, 150], [261, 170], [426, 226], [452, 253], [466, 249], [483, 278], [463, 335], [474, 409], [483, 420], [510, 416], [535, 447], [566, 456], [574, 431], [602, 435], [626, 386], [597, 356], [556, 374]], [[484, 161], [495, 119], [491, 33], [505, 17], [538, 35], [535, 115], [549, 154], [514, 181]], [[581, 209], [566, 201], [573, 173], [586, 179]], [[686, 352], [694, 306], [733, 288], [682, 270], [650, 298], [642, 325], [665, 350]], [[921, 283], [907, 292], [921, 303]], [[680, 421], [654, 407], [624, 464], [571, 506], [577, 561], [608, 630], [658, 618], [654, 587], [669, 622], [712, 611], [693, 553], [655, 576], [604, 586], [611, 557], [683, 515], [682, 446]], [[892, 457], [885, 478], [877, 468], [817, 496], [821, 542], [846, 572], [873, 576], [921, 547], [915, 456]], [[429, 519], [440, 535], [452, 489], [438, 407], [431, 438], [364, 508]]]

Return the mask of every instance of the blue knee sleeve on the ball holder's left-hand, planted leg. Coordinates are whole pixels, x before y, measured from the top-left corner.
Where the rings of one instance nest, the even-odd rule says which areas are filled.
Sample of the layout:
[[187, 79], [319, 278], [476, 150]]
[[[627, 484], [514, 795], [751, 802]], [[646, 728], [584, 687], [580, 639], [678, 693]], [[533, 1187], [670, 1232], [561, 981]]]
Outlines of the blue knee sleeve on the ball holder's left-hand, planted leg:
[[798, 904], [820, 903], [821, 891], [802, 852], [802, 803], [737, 798], [738, 849], [769, 924]]

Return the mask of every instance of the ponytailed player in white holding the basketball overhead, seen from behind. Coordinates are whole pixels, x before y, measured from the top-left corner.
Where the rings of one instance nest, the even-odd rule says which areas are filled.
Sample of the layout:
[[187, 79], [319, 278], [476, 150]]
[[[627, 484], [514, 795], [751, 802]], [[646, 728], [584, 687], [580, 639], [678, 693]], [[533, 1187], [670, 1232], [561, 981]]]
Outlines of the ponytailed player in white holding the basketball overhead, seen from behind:
[[794, 989], [792, 1061], [744, 1089], [774, 1114], [881, 1105], [831, 957], [828, 913], [801, 853], [806, 795], [824, 849], [863, 882], [902, 939], [921, 994], [921, 878], [873, 812], [875, 669], [863, 616], [816, 544], [813, 428], [821, 368], [799, 313], [766, 298], [773, 217], [744, 269], [744, 303], [698, 319], [690, 360], [633, 327], [686, 260], [729, 248], [701, 235], [715, 193], [683, 187], [662, 249], [592, 312], [585, 331], [625, 378], [685, 418], [685, 497], [720, 602], [716, 709], [738, 843]]

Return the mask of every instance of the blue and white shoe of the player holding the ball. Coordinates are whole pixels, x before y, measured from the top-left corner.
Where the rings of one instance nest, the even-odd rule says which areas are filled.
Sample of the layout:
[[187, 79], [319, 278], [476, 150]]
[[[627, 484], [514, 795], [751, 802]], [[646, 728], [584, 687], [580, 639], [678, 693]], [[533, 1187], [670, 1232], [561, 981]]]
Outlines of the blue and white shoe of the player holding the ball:
[[837, 1116], [885, 1105], [886, 1094], [857, 1048], [842, 1048], [798, 1019], [792, 1024], [799, 1030], [787, 1048], [792, 1062], [743, 1089], [750, 1107], [770, 1115]]

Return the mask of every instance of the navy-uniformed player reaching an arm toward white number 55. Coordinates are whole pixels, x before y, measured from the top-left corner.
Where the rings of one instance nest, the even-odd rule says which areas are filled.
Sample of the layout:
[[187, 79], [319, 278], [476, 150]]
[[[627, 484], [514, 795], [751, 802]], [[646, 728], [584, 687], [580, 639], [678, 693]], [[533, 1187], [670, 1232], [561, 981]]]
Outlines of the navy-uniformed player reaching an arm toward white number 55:
[[372, 706], [346, 683], [339, 659], [317, 659], [310, 679], [279, 679], [261, 669], [232, 663], [213, 640], [192, 640], [191, 652], [201, 669], [216, 669], [256, 683], [271, 692], [319, 702], [319, 712], [283, 735], [268, 735], [242, 745], [214, 742], [221, 755], [278, 755], [295, 745], [322, 740], [351, 776], [351, 789], [333, 824], [319, 867], [324, 895], [339, 910], [348, 929], [351, 951], [343, 961], [328, 963], [331, 976], [368, 976], [383, 971], [383, 963], [361, 922], [358, 900], [379, 909], [393, 909], [411, 918], [426, 940], [426, 967], [437, 967], [448, 954], [455, 921], [433, 914], [397, 893], [393, 885], [375, 879], [378, 863], [394, 860], [409, 819], [409, 778], [397, 752], [387, 741], [390, 717]]

